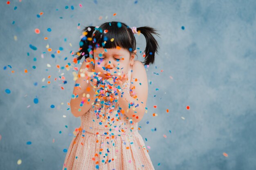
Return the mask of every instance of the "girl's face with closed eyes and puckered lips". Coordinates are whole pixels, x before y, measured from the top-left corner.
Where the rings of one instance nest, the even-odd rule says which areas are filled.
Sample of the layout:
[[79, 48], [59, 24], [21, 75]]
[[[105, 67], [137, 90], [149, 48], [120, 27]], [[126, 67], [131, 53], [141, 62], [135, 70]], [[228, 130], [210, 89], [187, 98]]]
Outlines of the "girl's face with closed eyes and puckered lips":
[[130, 56], [129, 51], [123, 48], [97, 48], [94, 50], [93, 57], [95, 61], [94, 71], [96, 73], [101, 72], [99, 76], [108, 79], [112, 76], [128, 73], [130, 66], [134, 63], [135, 55]]

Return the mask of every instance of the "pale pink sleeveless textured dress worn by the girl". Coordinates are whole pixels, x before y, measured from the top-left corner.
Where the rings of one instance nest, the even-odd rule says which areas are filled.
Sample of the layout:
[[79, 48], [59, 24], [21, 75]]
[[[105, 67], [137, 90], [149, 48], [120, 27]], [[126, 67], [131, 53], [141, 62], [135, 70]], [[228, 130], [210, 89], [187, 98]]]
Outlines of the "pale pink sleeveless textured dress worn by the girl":
[[[130, 94], [131, 67], [125, 82]], [[118, 102], [95, 101], [81, 118], [63, 170], [155, 170], [138, 123], [122, 114]]]

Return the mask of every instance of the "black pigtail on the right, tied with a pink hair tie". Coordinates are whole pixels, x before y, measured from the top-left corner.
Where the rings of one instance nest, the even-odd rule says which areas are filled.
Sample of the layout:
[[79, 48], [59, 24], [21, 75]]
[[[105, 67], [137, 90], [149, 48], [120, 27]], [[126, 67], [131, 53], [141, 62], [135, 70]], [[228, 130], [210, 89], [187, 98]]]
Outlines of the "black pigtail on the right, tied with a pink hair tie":
[[[155, 53], [158, 52], [159, 45], [157, 43], [157, 40], [153, 37], [153, 34], [159, 35], [156, 33], [157, 30], [149, 27], [149, 26], [142, 26], [137, 28], [137, 32], [142, 33], [146, 38], [146, 49], [144, 51], [145, 53], [145, 60], [144, 66], [149, 64], [154, 64], [155, 61]], [[159, 37], [159, 36], [158, 36]], [[160, 38], [160, 37], [159, 37]]]

